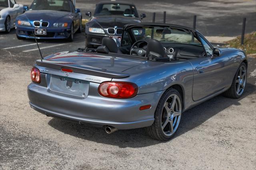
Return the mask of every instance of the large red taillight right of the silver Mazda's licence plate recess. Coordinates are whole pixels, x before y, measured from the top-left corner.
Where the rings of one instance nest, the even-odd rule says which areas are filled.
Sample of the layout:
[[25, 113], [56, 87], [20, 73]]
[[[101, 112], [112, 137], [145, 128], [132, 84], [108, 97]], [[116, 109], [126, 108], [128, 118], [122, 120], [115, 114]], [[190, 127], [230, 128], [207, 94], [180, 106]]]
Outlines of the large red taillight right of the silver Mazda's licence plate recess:
[[138, 86], [129, 82], [109, 81], [100, 84], [98, 92], [103, 97], [128, 99], [137, 95]]

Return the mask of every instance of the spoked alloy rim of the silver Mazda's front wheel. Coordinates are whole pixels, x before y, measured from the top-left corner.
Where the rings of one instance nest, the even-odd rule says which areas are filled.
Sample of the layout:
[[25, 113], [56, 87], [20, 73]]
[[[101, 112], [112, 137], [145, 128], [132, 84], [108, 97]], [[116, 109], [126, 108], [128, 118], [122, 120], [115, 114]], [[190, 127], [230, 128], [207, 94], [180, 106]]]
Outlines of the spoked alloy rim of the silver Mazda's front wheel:
[[236, 77], [236, 94], [242, 95], [244, 92], [244, 88], [246, 85], [246, 67], [242, 65], [238, 71], [237, 77]]

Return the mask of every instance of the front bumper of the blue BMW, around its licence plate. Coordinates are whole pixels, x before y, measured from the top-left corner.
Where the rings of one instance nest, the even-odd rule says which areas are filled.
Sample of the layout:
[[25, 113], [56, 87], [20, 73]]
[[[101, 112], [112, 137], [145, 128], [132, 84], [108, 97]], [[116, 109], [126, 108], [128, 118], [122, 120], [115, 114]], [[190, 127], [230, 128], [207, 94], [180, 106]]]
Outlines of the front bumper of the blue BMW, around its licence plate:
[[[17, 26], [16, 34], [23, 38], [34, 38], [34, 27], [21, 27]], [[70, 36], [70, 28], [46, 28], [46, 36], [35, 35], [37, 39], [65, 39]]]

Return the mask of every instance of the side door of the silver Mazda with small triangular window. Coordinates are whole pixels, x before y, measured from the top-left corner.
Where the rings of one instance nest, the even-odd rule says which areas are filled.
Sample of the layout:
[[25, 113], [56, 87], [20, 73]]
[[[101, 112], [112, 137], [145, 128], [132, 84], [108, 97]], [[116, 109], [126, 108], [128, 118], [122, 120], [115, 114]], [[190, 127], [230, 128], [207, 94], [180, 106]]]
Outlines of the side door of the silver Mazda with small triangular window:
[[229, 68], [229, 57], [222, 54], [218, 57], [213, 57], [214, 48], [212, 45], [202, 35], [199, 34], [198, 38], [204, 47], [206, 55], [190, 61], [194, 70], [192, 91], [194, 101], [221, 91], [229, 81], [226, 77]]

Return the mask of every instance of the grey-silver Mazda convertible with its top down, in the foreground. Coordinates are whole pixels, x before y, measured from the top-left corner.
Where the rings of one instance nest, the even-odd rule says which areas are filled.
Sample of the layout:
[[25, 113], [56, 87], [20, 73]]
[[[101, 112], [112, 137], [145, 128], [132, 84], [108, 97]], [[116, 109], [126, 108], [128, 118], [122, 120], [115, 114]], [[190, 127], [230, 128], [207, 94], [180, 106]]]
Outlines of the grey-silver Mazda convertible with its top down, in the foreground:
[[246, 76], [243, 51], [213, 47], [197, 30], [127, 24], [121, 43], [105, 37], [97, 49], [36, 60], [28, 97], [50, 117], [107, 133], [146, 127], [151, 137], [169, 140], [184, 111], [221, 93], [241, 97]]

